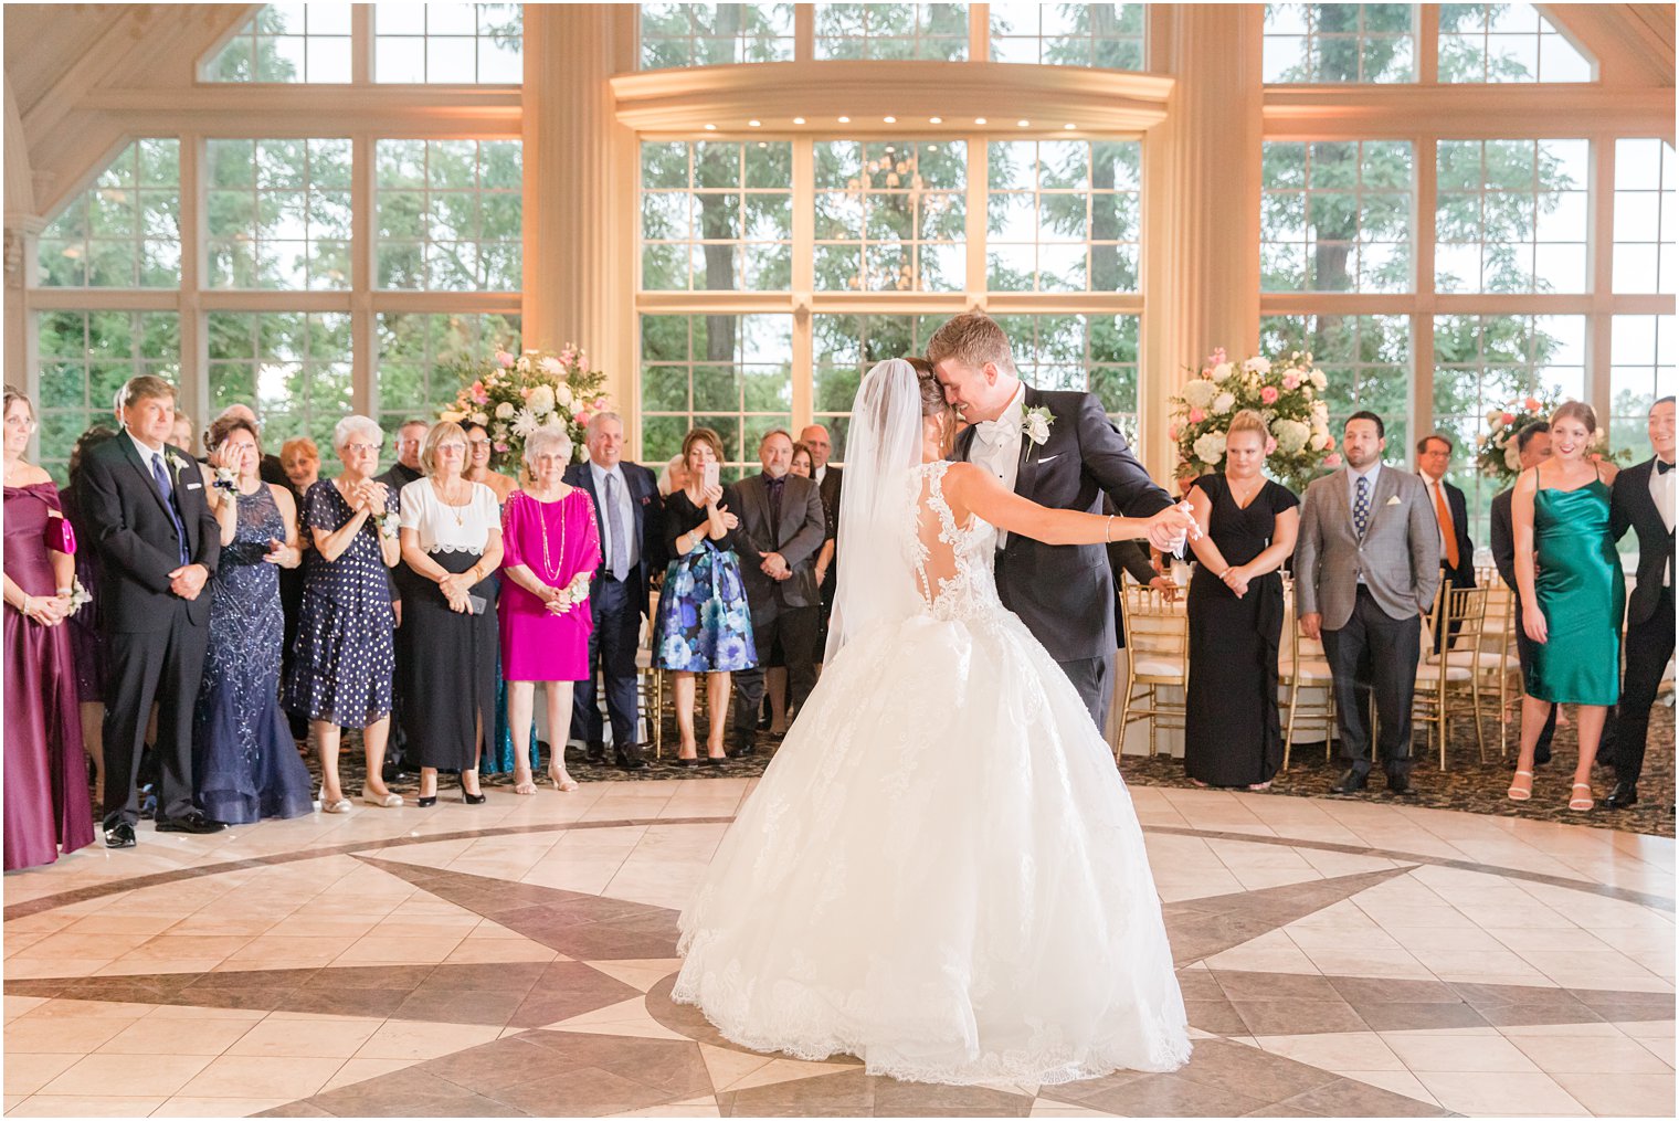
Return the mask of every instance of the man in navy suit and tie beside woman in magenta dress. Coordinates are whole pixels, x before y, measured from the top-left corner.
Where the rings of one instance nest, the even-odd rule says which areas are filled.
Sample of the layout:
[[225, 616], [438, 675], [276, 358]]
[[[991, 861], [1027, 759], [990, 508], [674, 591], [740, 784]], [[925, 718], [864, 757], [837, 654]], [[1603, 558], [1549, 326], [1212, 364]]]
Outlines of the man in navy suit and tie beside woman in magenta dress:
[[[601, 534], [601, 567], [589, 581], [589, 676], [578, 681], [571, 701], [571, 737], [583, 740], [591, 764], [606, 762], [606, 728], [594, 700], [594, 675], [606, 681], [606, 713], [613, 725], [613, 755], [625, 770], [646, 767], [636, 727], [636, 665], [648, 579], [665, 571], [665, 502], [658, 478], [625, 455], [625, 423], [616, 413], [596, 413], [588, 431], [589, 461], [566, 468], [566, 482], [594, 500]], [[656, 717], [655, 717], [656, 718]], [[564, 730], [552, 728], [554, 750], [564, 752]]]

